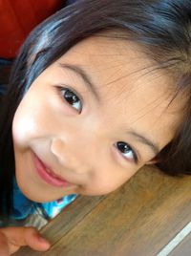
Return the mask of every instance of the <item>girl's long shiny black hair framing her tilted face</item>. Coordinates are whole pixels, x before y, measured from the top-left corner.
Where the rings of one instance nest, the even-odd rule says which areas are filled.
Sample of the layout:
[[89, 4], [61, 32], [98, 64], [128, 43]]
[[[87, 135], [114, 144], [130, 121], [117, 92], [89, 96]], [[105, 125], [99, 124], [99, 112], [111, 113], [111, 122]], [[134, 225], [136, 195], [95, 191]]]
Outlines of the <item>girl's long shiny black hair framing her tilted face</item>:
[[[157, 156], [169, 175], [191, 174], [191, 1], [78, 0], [34, 29], [16, 57], [0, 113], [0, 215], [11, 209], [14, 154], [11, 124], [32, 81], [82, 39], [115, 31], [142, 46], [159, 69], [175, 79], [175, 91], [187, 92], [176, 137]], [[111, 38], [112, 40], [112, 38]], [[3, 209], [4, 203], [4, 209]]]

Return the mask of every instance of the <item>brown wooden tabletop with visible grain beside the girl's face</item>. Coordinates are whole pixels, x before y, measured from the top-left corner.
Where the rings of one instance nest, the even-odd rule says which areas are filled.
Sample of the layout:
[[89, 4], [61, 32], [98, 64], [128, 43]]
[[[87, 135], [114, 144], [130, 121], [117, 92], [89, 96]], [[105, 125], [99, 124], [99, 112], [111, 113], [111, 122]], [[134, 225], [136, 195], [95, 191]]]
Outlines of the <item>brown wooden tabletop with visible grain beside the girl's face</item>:
[[49, 251], [24, 247], [14, 255], [154, 256], [190, 221], [191, 177], [144, 167], [110, 195], [79, 196], [44, 226]]

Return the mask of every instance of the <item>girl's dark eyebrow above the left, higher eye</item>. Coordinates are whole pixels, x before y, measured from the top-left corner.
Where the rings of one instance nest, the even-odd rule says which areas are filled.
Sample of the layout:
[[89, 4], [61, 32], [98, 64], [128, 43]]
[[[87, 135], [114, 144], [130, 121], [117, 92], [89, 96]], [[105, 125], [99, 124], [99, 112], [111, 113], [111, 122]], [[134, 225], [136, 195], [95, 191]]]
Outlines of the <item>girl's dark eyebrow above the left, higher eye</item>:
[[98, 101], [100, 101], [100, 97], [96, 91], [96, 85], [93, 83], [90, 75], [88, 75], [85, 70], [83, 70], [81, 67], [74, 65], [74, 64], [67, 64], [67, 63], [59, 63], [59, 66], [61, 68], [69, 69], [73, 71], [76, 75], [79, 75], [84, 83], [87, 85], [87, 87], [91, 90], [93, 95], [96, 97]]

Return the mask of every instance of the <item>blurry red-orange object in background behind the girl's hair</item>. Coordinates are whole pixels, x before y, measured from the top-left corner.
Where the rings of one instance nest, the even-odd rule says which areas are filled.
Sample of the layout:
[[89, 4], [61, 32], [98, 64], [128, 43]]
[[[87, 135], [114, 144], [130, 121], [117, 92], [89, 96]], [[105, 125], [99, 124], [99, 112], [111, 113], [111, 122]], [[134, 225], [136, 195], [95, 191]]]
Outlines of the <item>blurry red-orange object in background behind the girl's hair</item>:
[[14, 58], [29, 32], [53, 12], [63, 0], [0, 0], [0, 57]]

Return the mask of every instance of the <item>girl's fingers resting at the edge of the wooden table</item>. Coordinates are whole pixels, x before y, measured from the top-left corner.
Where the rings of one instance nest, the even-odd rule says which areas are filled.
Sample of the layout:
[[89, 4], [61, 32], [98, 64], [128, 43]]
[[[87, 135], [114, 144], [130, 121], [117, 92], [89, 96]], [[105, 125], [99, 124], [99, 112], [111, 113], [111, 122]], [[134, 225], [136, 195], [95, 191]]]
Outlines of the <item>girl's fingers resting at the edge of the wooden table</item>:
[[47, 250], [50, 247], [48, 241], [43, 239], [38, 230], [33, 227], [6, 227], [1, 228], [0, 231], [8, 238], [11, 253], [16, 250], [16, 247], [24, 245], [39, 251]]

